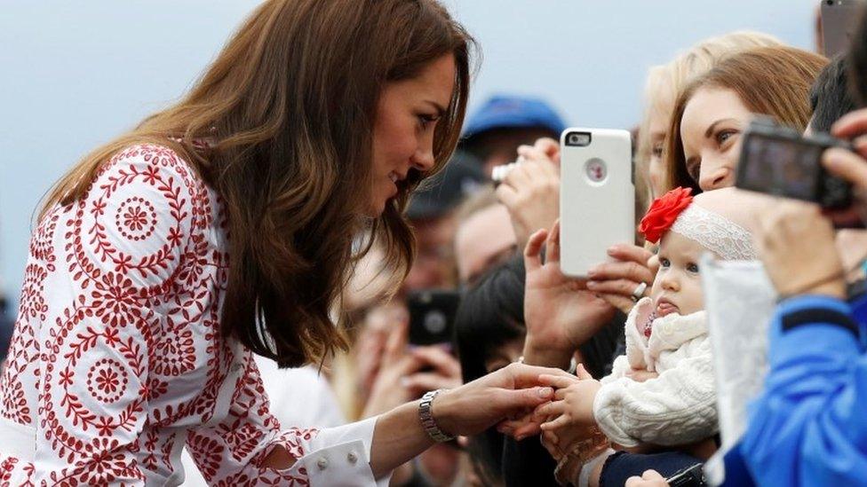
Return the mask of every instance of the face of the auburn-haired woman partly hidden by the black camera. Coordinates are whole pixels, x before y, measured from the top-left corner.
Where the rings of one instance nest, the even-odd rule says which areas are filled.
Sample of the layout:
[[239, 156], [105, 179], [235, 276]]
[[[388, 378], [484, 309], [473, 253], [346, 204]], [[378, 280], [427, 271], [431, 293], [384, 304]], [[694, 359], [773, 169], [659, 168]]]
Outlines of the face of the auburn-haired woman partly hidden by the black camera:
[[680, 119], [687, 172], [702, 191], [735, 185], [741, 133], [752, 119], [735, 91], [701, 88], [689, 99]]

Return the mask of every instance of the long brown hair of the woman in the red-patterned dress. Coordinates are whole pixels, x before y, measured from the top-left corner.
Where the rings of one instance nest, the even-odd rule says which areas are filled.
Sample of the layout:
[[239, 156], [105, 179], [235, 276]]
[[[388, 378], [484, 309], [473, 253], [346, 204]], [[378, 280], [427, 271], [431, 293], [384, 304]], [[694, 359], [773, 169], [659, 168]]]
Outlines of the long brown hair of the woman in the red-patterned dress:
[[[474, 46], [435, 0], [268, 0], [184, 98], [85, 156], [54, 186], [42, 214], [83, 197], [100, 165], [124, 147], [170, 147], [227, 210], [223, 334], [281, 366], [322, 359], [346, 348], [330, 311], [370, 241], [406, 276], [414, 238], [403, 210], [457, 145]], [[434, 131], [434, 169], [411, 171], [370, 221], [360, 208], [370, 201], [379, 96], [388, 82], [449, 54], [456, 86]], [[370, 238], [359, 245], [362, 233]]]

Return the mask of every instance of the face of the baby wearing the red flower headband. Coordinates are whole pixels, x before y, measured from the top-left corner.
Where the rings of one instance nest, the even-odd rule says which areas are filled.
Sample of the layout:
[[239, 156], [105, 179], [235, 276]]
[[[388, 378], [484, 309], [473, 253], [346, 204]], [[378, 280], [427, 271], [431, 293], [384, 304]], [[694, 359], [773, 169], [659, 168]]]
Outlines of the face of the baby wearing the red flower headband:
[[695, 240], [679, 233], [666, 232], [659, 243], [659, 271], [650, 298], [656, 316], [678, 313], [681, 316], [704, 310], [698, 259], [704, 253]]

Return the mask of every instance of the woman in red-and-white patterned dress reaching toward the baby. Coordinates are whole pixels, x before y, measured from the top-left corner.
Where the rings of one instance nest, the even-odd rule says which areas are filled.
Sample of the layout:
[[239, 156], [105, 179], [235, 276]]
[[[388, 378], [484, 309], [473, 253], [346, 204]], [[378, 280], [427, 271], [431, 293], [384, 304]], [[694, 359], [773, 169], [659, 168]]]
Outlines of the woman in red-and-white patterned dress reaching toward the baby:
[[186, 444], [212, 484], [386, 483], [548, 400], [551, 370], [511, 365], [298, 430], [252, 360], [345, 346], [330, 312], [362, 231], [405, 272], [402, 211], [457, 144], [472, 44], [435, 0], [270, 0], [185, 98], [71, 169], [31, 240], [2, 481], [177, 484]]

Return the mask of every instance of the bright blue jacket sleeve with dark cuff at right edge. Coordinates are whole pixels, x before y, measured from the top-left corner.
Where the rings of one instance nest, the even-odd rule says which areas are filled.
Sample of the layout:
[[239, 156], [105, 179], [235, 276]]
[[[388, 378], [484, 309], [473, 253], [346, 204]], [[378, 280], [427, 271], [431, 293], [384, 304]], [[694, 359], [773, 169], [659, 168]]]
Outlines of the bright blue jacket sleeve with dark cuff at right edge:
[[867, 357], [845, 302], [800, 296], [770, 327], [741, 452], [760, 485], [867, 485]]

